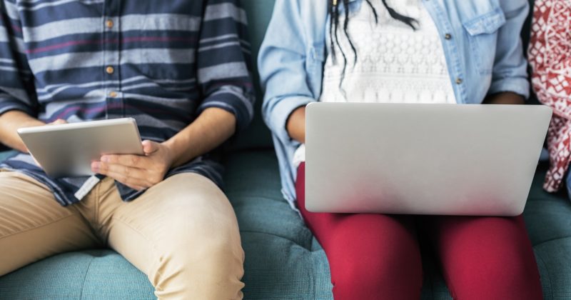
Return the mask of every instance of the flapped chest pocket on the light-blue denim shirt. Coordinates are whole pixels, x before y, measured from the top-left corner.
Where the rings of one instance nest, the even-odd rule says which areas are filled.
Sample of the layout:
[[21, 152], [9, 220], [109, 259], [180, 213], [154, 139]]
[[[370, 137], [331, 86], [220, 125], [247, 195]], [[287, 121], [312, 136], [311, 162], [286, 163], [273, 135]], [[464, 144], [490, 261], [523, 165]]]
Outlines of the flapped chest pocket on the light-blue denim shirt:
[[505, 24], [505, 15], [499, 7], [487, 14], [464, 20], [472, 56], [479, 74], [492, 73], [497, 46], [497, 31]]

